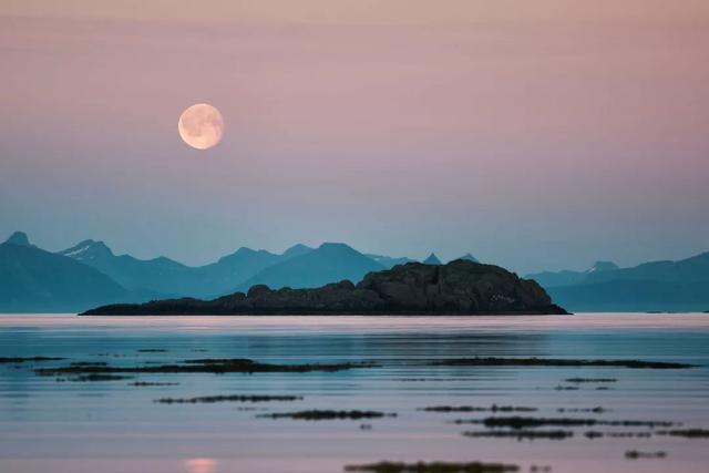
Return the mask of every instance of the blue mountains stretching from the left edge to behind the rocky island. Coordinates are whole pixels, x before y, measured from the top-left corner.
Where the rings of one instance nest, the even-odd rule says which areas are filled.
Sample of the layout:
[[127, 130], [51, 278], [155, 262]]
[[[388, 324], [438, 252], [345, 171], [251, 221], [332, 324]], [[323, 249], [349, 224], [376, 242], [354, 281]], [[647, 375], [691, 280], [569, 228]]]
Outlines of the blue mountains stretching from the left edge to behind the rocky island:
[[410, 261], [413, 259], [366, 255], [345, 244], [325, 243], [318, 248], [298, 244], [282, 254], [243, 247], [215, 263], [193, 267], [166, 257], [115, 255], [103, 241], [92, 239], [50, 253], [17, 232], [0, 244], [0, 312], [81, 311], [168, 297], [214, 298], [257, 284], [279, 289], [312, 288], [342, 279], [358, 282], [370, 271]]

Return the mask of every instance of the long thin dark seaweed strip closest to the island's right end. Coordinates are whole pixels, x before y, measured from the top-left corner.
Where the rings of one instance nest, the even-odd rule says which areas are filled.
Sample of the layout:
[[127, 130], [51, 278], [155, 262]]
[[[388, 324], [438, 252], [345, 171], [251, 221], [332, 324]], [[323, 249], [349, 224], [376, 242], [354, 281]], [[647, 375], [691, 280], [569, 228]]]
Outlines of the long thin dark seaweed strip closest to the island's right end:
[[644, 360], [574, 360], [558, 358], [448, 358], [433, 360], [434, 367], [615, 367], [633, 369], [685, 369], [696, 364]]

